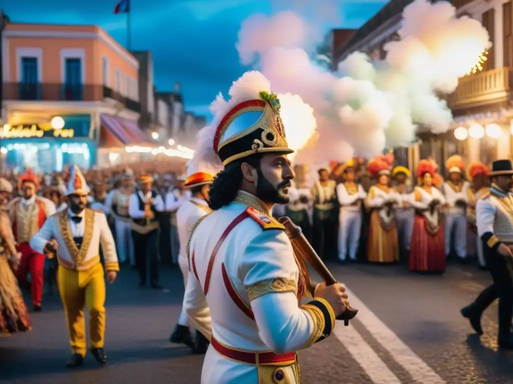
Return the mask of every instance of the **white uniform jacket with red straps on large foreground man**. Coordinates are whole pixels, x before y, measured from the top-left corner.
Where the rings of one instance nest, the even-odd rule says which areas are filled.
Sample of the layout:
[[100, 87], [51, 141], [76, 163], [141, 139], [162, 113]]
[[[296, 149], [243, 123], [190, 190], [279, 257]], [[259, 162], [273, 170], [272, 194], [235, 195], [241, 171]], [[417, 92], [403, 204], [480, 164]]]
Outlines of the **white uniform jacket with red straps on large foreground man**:
[[295, 352], [327, 337], [335, 318], [322, 298], [299, 305], [305, 273], [284, 226], [239, 191], [196, 223], [187, 253], [195, 278], [184, 306], [211, 340], [202, 384], [299, 382]]

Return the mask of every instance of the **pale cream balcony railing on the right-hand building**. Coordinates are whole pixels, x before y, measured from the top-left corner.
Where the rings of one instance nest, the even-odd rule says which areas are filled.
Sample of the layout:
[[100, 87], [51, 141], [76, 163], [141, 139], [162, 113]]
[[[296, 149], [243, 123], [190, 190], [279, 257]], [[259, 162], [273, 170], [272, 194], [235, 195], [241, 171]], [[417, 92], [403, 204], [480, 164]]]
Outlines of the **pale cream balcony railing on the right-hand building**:
[[495, 102], [513, 91], [513, 68], [504, 67], [462, 77], [456, 91], [448, 97], [451, 109]]

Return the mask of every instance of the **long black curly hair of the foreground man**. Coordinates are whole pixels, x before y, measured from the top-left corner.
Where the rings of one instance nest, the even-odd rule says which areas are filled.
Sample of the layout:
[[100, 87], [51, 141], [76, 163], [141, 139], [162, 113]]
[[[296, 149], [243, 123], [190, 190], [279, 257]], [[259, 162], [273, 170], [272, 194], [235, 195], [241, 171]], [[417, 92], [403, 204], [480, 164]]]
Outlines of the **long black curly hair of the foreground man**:
[[255, 154], [227, 164], [220, 173], [215, 175], [212, 184], [210, 184], [208, 206], [216, 210], [230, 204], [241, 188], [241, 164], [248, 163], [255, 168], [259, 168], [261, 159], [261, 154]]

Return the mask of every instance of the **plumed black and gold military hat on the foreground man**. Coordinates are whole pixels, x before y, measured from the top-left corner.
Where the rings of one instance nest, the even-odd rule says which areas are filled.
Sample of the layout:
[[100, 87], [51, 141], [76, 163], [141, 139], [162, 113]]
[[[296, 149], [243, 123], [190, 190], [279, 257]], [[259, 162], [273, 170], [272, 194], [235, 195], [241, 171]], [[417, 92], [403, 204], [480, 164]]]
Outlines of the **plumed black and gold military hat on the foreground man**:
[[[294, 113], [304, 115], [307, 107], [312, 115], [312, 110], [299, 96], [289, 94], [283, 95], [284, 99], [295, 110], [288, 106], [283, 108], [285, 105], [280, 103], [270, 88], [269, 80], [262, 73], [250, 71], [232, 84], [230, 100], [224, 100], [219, 94], [210, 108], [214, 114], [212, 124], [198, 133], [198, 145], [192, 162], [209, 164], [215, 169], [253, 154], [293, 153], [285, 139], [282, 115], [288, 111], [287, 116], [290, 115], [291, 120], [297, 122], [297, 119], [293, 119]], [[291, 129], [309, 139], [315, 133], [317, 124], [313, 117], [304, 120]], [[298, 141], [299, 145], [304, 144], [300, 144], [300, 141], [303, 140]]]

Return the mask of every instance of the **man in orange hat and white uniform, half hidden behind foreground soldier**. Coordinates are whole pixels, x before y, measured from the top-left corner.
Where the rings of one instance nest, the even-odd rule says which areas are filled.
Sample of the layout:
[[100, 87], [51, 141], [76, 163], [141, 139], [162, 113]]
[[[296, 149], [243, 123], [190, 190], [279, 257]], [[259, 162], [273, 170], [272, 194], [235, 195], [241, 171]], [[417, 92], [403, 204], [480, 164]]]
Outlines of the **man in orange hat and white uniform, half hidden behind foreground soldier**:
[[[187, 286], [189, 276], [189, 263], [185, 248], [193, 225], [200, 218], [212, 212], [212, 209], [208, 206], [208, 188], [212, 182], [213, 174], [215, 172], [210, 170], [208, 172], [206, 170], [199, 171], [192, 165], [187, 167], [187, 180], [184, 187], [189, 189], [191, 197], [176, 212], [176, 223], [180, 238], [178, 264], [184, 276], [185, 286]], [[205, 353], [208, 347], [208, 339], [200, 331], [196, 330], [195, 342], [192, 341], [189, 330], [189, 316], [184, 307], [169, 341], [171, 343], [183, 343], [193, 348], [196, 353]]]

